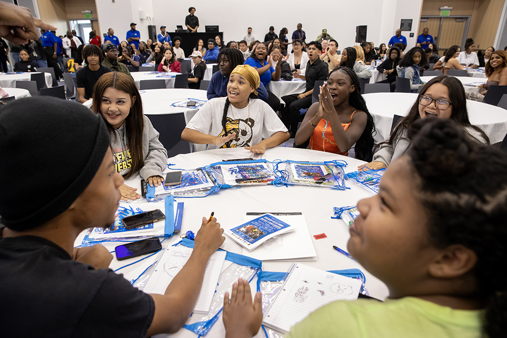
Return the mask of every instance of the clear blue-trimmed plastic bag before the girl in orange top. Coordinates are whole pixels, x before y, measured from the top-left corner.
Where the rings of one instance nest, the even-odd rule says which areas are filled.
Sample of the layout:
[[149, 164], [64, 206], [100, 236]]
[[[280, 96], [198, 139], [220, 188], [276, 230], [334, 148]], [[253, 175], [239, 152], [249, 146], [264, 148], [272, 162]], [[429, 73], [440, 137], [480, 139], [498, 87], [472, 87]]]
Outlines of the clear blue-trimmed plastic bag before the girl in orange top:
[[286, 161], [282, 172], [284, 184], [325, 186], [332, 189], [345, 190], [345, 161], [330, 162], [297, 162]]

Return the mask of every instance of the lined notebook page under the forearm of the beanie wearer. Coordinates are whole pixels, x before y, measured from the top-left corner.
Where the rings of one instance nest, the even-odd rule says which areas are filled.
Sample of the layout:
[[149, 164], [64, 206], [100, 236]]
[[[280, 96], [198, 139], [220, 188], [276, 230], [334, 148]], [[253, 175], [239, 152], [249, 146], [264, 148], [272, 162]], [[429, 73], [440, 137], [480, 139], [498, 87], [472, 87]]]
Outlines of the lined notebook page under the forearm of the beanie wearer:
[[[192, 249], [187, 247], [170, 246], [164, 249], [152, 273], [148, 276], [146, 284], [141, 289], [147, 293], [164, 294], [167, 286], [171, 283], [174, 276], [182, 270], [191, 254]], [[209, 312], [226, 254], [227, 252], [225, 251], [216, 251], [209, 257], [194, 312]]]

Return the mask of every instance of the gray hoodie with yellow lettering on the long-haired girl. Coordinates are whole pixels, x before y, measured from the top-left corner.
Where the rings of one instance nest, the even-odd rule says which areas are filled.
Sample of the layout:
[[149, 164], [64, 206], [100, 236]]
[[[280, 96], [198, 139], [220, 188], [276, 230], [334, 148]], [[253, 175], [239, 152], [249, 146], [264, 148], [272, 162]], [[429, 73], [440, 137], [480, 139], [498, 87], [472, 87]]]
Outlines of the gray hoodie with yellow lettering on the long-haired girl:
[[[167, 167], [167, 151], [159, 141], [158, 131], [146, 116], [144, 119], [144, 129], [142, 132], [142, 156], [144, 165], [139, 170], [139, 174], [143, 179], [152, 176], [162, 176], [162, 171]], [[130, 149], [126, 142], [125, 124], [120, 128], [114, 129], [111, 134], [111, 147], [115, 157], [115, 168], [121, 175], [125, 175], [130, 171], [132, 160], [130, 158]], [[116, 139], [115, 139], [116, 135]]]

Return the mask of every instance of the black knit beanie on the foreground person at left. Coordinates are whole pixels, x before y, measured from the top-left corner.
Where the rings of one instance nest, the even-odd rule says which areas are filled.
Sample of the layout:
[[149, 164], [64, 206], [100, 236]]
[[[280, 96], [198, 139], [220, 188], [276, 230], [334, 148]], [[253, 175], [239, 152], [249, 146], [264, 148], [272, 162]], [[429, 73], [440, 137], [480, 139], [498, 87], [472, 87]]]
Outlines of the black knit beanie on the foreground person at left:
[[40, 96], [0, 108], [0, 216], [40, 226], [81, 195], [110, 147], [104, 120], [82, 104]]

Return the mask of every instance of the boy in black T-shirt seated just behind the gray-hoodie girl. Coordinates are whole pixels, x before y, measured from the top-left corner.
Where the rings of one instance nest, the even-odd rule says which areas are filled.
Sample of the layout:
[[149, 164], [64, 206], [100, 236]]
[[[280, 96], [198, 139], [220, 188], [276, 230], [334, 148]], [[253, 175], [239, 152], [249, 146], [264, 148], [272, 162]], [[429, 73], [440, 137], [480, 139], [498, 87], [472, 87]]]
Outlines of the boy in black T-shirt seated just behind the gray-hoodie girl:
[[[111, 44], [107, 44], [111, 45]], [[88, 45], [83, 48], [83, 59], [86, 66], [76, 73], [76, 84], [78, 88], [79, 102], [84, 103], [92, 97], [93, 86], [105, 73], [112, 70], [101, 65], [104, 60], [104, 53], [95, 45]]]

